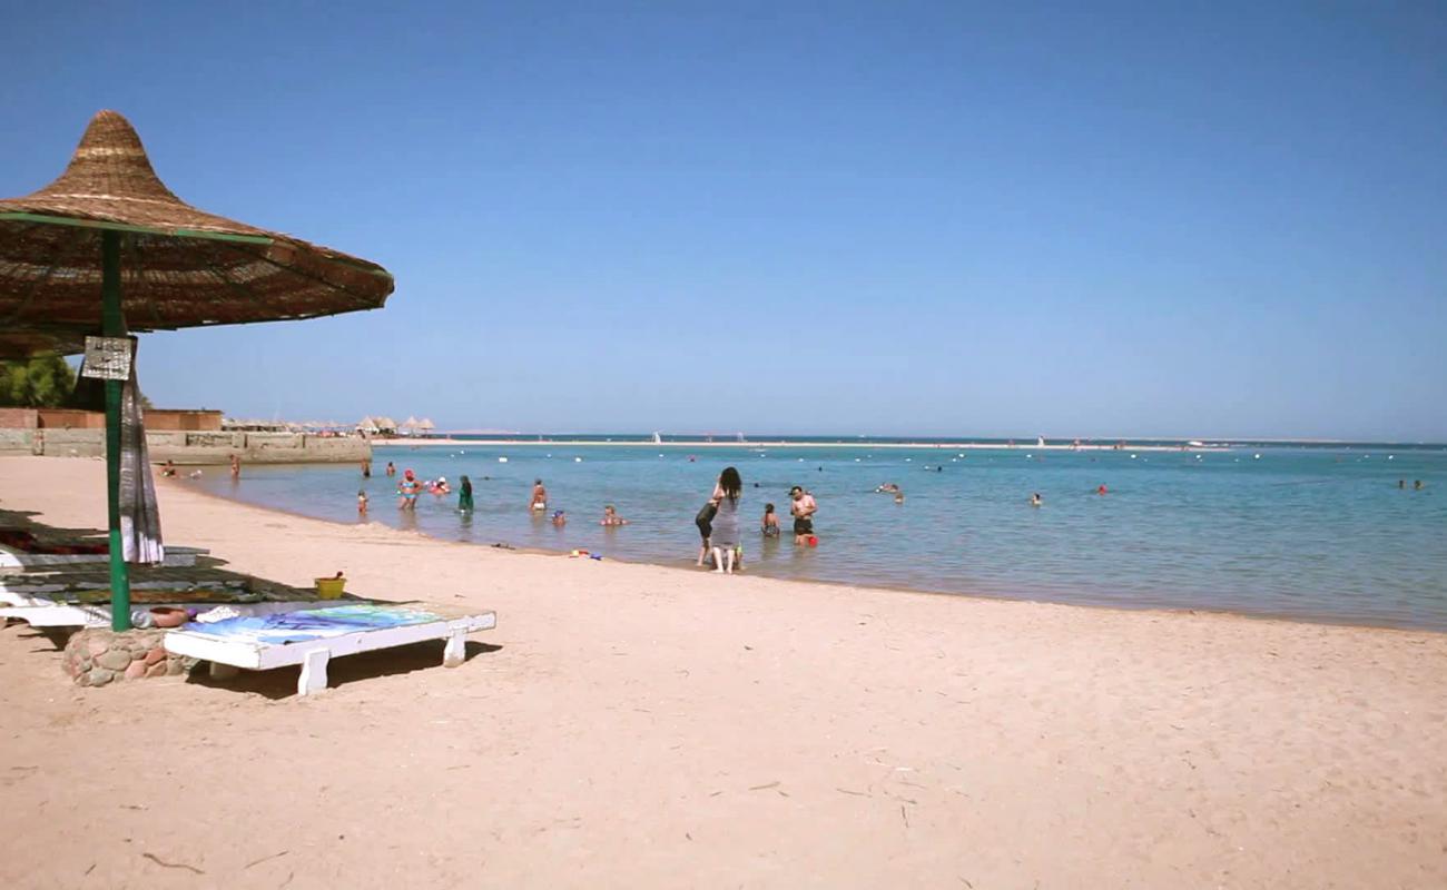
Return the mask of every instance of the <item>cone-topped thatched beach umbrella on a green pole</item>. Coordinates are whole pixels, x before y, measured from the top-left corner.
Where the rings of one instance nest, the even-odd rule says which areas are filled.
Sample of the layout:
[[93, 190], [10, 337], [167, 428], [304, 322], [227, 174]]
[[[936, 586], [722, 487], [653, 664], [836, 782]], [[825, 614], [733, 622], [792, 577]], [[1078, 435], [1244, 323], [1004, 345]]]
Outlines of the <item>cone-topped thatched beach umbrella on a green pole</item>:
[[[91, 120], [58, 179], [27, 197], [0, 200], [0, 321], [14, 352], [46, 342], [74, 352], [87, 334], [119, 339], [370, 310], [391, 292], [392, 276], [376, 263], [185, 204], [161, 182], [136, 132], [114, 111]], [[129, 365], [126, 359], [116, 368]], [[122, 397], [123, 381], [106, 379], [116, 630], [130, 627], [120, 534]], [[132, 428], [143, 446], [139, 423]], [[135, 440], [127, 433], [127, 441]], [[143, 463], [140, 475], [140, 488], [149, 488]], [[127, 495], [135, 493], [132, 482], [127, 475]]]

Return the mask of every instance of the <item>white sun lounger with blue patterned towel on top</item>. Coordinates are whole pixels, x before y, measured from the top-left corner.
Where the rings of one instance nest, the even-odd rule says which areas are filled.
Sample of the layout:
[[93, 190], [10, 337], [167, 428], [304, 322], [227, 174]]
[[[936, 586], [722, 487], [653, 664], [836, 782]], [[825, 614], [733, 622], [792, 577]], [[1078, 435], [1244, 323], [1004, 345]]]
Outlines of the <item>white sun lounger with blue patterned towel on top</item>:
[[[285, 628], [246, 627], [246, 622], [216, 625], [188, 624], [166, 634], [166, 651], [211, 663], [214, 677], [232, 669], [271, 670], [301, 664], [297, 695], [327, 687], [327, 661], [379, 648], [410, 645], [425, 640], [446, 640], [443, 664], [463, 663], [467, 634], [486, 631], [498, 624], [495, 612], [467, 612], [456, 606], [425, 602], [327, 605], [288, 614]], [[314, 621], [314, 627], [308, 627]], [[360, 624], [350, 624], [357, 621]], [[362, 627], [375, 621], [379, 627]], [[295, 637], [291, 641], [278, 641]]]

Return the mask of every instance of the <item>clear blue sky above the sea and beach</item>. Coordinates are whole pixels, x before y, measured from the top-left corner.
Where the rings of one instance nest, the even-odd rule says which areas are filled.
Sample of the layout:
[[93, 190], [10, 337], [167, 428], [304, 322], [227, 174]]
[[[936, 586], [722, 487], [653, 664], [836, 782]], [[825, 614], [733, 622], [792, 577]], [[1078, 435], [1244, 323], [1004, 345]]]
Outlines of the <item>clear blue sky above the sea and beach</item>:
[[111, 107], [396, 275], [146, 337], [161, 405], [1447, 440], [1440, 1], [0, 6], [0, 194]]

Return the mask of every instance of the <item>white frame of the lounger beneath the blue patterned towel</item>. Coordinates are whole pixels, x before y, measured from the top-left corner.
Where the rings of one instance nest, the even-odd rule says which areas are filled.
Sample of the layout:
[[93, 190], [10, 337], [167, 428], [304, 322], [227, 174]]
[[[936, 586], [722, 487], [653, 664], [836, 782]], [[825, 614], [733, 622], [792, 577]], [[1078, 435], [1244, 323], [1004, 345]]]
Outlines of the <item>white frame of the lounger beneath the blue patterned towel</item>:
[[191, 656], [211, 663], [211, 676], [227, 677], [234, 670], [217, 670], [217, 666], [246, 670], [271, 670], [301, 664], [301, 679], [297, 695], [310, 695], [327, 687], [327, 661], [333, 657], [355, 656], [379, 648], [411, 645], [425, 640], [446, 640], [443, 666], [457, 667], [463, 663], [467, 634], [488, 631], [498, 625], [496, 612], [480, 612], [462, 618], [410, 624], [405, 627], [357, 631], [340, 637], [308, 640], [305, 643], [245, 643], [216, 637], [204, 631], [171, 631], [166, 634], [166, 651], [177, 656]]

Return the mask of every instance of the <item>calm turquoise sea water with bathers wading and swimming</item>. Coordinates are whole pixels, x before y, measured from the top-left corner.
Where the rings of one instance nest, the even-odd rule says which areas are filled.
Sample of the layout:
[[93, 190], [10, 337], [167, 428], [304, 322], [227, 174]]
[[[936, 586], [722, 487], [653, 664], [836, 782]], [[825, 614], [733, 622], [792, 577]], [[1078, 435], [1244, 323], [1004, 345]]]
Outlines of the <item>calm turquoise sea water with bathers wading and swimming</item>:
[[[446, 475], [454, 488], [472, 476], [476, 512], [460, 515], [453, 493], [423, 495], [415, 515], [399, 514], [395, 480], [382, 475], [388, 460], [423, 479]], [[728, 465], [744, 476], [742, 518], [757, 522], [774, 502], [786, 528], [783, 541], [745, 534], [748, 569], [760, 575], [1447, 630], [1441, 446], [1257, 446], [1200, 457], [1027, 446], [965, 456], [870, 446], [398, 446], [376, 449], [368, 480], [355, 466], [247, 466], [240, 483], [221, 469], [203, 483], [343, 522], [356, 521], [360, 488], [372, 521], [444, 540], [682, 566], [697, 554], [693, 517]], [[567, 511], [566, 528], [530, 515], [537, 476], [550, 508]], [[1412, 491], [1415, 479], [1422, 491]], [[883, 482], [903, 486], [906, 502], [873, 493]], [[793, 547], [787, 534], [794, 483], [819, 501], [815, 550]], [[1094, 493], [1101, 483], [1106, 496]], [[1030, 492], [1045, 507], [1029, 507]], [[631, 524], [599, 527], [605, 504]]]

